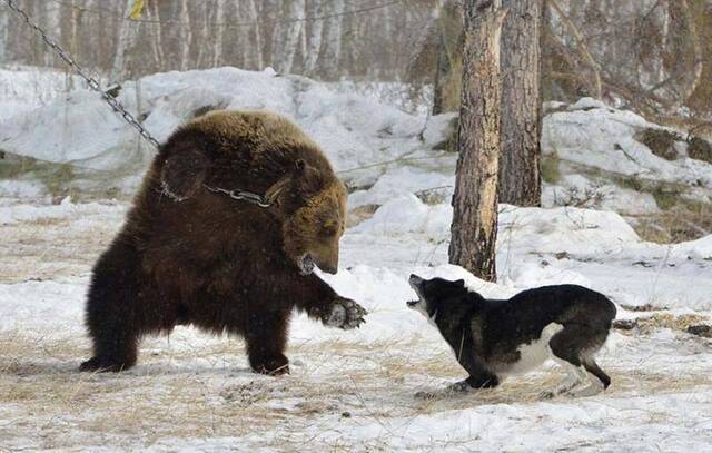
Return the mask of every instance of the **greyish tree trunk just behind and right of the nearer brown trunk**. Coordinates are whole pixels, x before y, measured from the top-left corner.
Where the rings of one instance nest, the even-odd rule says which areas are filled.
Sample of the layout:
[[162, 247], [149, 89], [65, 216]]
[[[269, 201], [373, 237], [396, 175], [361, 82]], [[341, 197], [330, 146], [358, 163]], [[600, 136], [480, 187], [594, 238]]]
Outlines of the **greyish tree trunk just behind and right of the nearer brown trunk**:
[[504, 0], [500, 201], [540, 206], [542, 0]]

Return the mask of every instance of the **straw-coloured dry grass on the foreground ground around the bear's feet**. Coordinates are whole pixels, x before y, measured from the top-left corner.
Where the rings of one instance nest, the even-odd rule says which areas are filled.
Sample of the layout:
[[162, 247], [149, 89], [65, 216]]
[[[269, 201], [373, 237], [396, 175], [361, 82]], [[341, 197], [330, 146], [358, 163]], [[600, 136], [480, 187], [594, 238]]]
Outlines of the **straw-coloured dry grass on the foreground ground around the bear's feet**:
[[[657, 315], [650, 319], [650, 329], [696, 322]], [[88, 352], [85, 339], [4, 335], [0, 407], [6, 414], [0, 439], [10, 445], [29, 439], [32, 449], [107, 442], [140, 447], [167, 437], [249, 437], [270, 432], [268, 447], [314, 449], [308, 433], [338, 430], [347, 420], [393, 427], [393, 420], [407, 424], [442, 411], [535, 404], [542, 390], [563, 378], [555, 367], [505, 381], [493, 391], [422, 400], [414, 395], [437, 392], [465, 376], [449, 351], [426, 339], [295, 343], [289, 351], [293, 374], [280, 378], [251, 374], [239, 341], [185, 346], [166, 348], [165, 339], [148, 341], [140, 366], [128, 373], [80, 374], [76, 367]], [[625, 357], [603, 366], [614, 381], [612, 397], [712, 385], [705, 373], [665, 374]]]

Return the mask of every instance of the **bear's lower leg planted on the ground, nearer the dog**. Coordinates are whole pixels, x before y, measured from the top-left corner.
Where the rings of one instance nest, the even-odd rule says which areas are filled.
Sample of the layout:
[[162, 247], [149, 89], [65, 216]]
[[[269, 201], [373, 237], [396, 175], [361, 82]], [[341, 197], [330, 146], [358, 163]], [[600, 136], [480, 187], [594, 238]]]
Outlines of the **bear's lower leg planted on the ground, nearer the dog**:
[[287, 346], [289, 313], [259, 312], [249, 316], [245, 329], [249, 364], [256, 373], [280, 375], [289, 373]]

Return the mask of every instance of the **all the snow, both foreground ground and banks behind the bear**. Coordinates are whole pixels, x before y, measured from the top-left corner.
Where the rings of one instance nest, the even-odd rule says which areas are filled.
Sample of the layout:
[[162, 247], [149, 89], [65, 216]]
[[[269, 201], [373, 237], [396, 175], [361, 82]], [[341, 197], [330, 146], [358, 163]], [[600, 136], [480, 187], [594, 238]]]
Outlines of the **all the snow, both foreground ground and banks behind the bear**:
[[[324, 278], [370, 312], [367, 324], [342, 332], [297, 316], [291, 374], [279, 378], [250, 373], [239, 338], [184, 327], [146, 338], [138, 366], [127, 373], [80, 374], [90, 354], [82, 325], [90, 269], [128, 204], [52, 204], [31, 177], [0, 180], [0, 451], [599, 452], [712, 444], [712, 341], [685, 332], [712, 315], [712, 236], [659, 245], [642, 240], [614, 211], [501, 205], [500, 282], [485, 283], [446, 264], [454, 157], [433, 147], [451, 118], [231, 68], [156, 75], [139, 85], [139, 110], [159, 138], [192, 111], [222, 106], [281, 111], [322, 144], [356, 188], [342, 270]], [[129, 82], [122, 90], [130, 107], [138, 105], [135, 88]], [[109, 171], [100, 173], [105, 185], [128, 175], [123, 188], [134, 187], [150, 150], [137, 147], [134, 132], [96, 97], [79, 90], [40, 100], [0, 117], [9, 118], [0, 124], [0, 148]], [[706, 164], [684, 150], [661, 163], [625, 141], [643, 121], [631, 112], [584, 100], [547, 118], [545, 151], [556, 146], [568, 170], [591, 164], [610, 174], [640, 173], [614, 164], [619, 144], [652, 178], [692, 187], [690, 175], [699, 173], [703, 183], [694, 187], [709, 196]], [[600, 183], [590, 173], [578, 176], [565, 174], [564, 183]], [[550, 206], [561, 190], [568, 188], [547, 186]], [[617, 186], [611, 193], [617, 201], [610, 208], [651, 207], [637, 193]], [[490, 297], [576, 283], [609, 295], [619, 318], [639, 319], [639, 327], [613, 331], [602, 351], [613, 378], [605, 394], [541, 400], [562, 377], [550, 364], [494, 391], [421, 400], [417, 392], [465, 374], [437, 332], [406, 308], [411, 273], [465, 278]]]

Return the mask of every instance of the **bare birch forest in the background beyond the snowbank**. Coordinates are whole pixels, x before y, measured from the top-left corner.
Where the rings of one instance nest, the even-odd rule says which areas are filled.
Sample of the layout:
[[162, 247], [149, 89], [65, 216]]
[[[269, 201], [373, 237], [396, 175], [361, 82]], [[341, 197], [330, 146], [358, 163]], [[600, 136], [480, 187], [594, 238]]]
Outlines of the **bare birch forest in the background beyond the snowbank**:
[[[167, 70], [273, 67], [319, 80], [432, 85], [461, 66], [462, 4], [436, 0], [26, 0], [34, 20], [111, 81]], [[664, 117], [712, 111], [712, 2], [547, 0], [544, 96], [593, 96]], [[0, 10], [0, 65], [57, 67]], [[97, 36], [95, 30], [102, 30]], [[442, 79], [456, 109], [458, 77]], [[438, 102], [441, 102], [438, 100]], [[685, 109], [681, 109], [685, 107]], [[439, 108], [439, 107], [438, 107]]]

